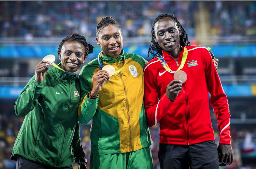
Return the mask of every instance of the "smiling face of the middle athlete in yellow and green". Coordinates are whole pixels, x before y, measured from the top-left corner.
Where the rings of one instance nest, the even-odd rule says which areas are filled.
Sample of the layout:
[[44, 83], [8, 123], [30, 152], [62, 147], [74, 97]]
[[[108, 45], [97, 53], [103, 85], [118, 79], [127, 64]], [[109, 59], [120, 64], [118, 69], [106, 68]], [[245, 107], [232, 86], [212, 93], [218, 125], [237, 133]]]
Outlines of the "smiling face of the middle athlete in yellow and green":
[[101, 29], [96, 42], [100, 45], [104, 56], [117, 57], [123, 48], [123, 35], [116, 26], [109, 25]]

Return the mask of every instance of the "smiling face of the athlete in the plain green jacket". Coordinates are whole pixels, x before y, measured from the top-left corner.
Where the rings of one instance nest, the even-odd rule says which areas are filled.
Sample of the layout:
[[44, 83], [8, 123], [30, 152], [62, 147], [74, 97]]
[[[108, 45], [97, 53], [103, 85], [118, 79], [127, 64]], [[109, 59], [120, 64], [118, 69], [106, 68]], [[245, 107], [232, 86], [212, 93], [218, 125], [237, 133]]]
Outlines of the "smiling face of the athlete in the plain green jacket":
[[62, 45], [59, 59], [61, 67], [68, 72], [75, 72], [83, 64], [85, 47], [76, 41], [68, 41]]

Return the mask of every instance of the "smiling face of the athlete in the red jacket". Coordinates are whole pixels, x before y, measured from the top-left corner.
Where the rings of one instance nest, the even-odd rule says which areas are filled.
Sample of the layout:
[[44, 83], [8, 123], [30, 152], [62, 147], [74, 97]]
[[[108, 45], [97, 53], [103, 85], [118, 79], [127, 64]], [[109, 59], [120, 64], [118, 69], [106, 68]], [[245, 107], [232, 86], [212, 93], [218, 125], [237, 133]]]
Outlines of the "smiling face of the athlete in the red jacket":
[[165, 52], [172, 52], [180, 50], [180, 35], [181, 30], [177, 28], [176, 23], [170, 17], [160, 19], [156, 22], [155, 35], [153, 36], [155, 42]]

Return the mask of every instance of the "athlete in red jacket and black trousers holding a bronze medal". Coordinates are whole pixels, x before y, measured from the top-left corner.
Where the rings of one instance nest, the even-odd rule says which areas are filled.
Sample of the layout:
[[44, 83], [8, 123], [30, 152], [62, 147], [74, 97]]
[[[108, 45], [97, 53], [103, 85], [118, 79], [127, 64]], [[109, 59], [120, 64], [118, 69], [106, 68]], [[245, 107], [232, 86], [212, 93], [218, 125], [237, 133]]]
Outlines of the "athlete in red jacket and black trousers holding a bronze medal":
[[[148, 126], [160, 123], [160, 167], [215, 169], [219, 168], [217, 153], [220, 163], [231, 164], [228, 101], [210, 52], [203, 46], [189, 46], [173, 15], [159, 15], [152, 36], [149, 53], [154, 59], [144, 68], [144, 105]], [[187, 75], [183, 84], [173, 78], [178, 68]], [[218, 152], [208, 92], [220, 132]]]

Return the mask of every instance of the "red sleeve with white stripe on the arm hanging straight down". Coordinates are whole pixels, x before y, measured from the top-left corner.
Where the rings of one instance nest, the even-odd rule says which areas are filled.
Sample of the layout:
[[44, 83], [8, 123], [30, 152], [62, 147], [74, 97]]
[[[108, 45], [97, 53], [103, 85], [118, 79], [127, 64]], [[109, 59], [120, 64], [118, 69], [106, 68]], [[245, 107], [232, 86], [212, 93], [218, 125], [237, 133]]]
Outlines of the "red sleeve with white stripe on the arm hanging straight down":
[[205, 77], [208, 90], [211, 94], [210, 103], [217, 117], [217, 127], [219, 129], [219, 143], [231, 144], [230, 136], [230, 113], [228, 99], [223, 90], [221, 80], [212, 62], [212, 57], [207, 49], [204, 49]]

